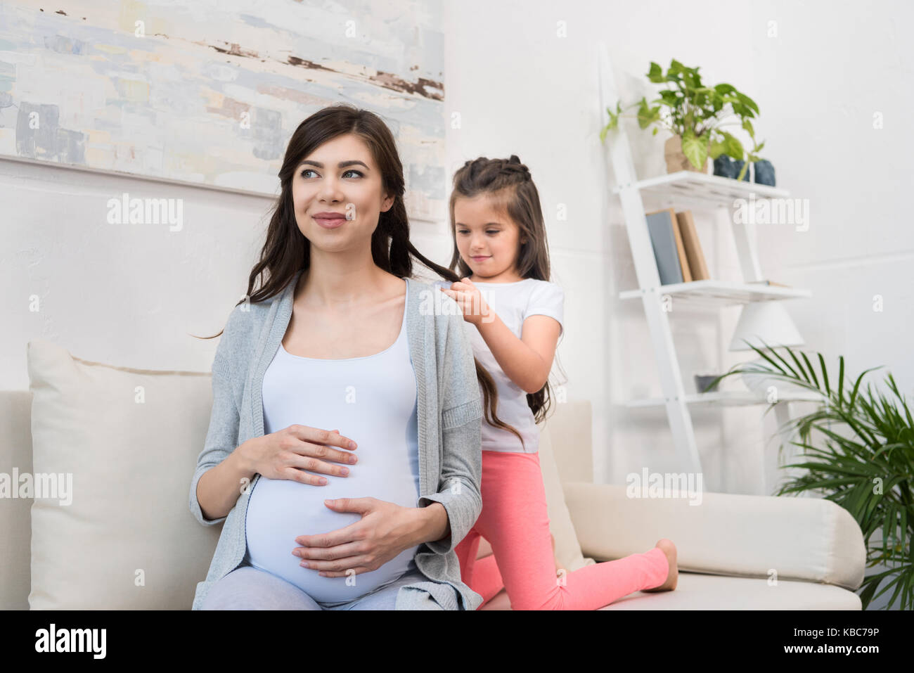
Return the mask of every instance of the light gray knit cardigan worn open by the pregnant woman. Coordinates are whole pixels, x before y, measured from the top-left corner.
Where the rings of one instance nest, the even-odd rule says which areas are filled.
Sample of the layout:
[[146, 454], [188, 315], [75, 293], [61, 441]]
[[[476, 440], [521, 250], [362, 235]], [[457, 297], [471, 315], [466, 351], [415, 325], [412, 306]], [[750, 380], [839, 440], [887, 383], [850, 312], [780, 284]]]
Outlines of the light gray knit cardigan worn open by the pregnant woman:
[[[213, 360], [213, 410], [206, 443], [197, 457], [190, 484], [190, 511], [204, 526], [224, 525], [207, 579], [197, 583], [194, 610], [209, 588], [235, 570], [247, 550], [245, 515], [249, 488], [222, 518], [203, 517], [197, 482], [237, 446], [263, 435], [263, 374], [276, 354], [292, 316], [292, 298], [301, 271], [281, 294], [259, 303], [236, 306], [226, 322]], [[429, 283], [407, 279], [409, 354], [416, 372], [419, 420], [420, 494], [416, 507], [440, 502], [451, 526], [448, 538], [425, 542], [415, 561], [428, 582], [400, 587], [397, 610], [475, 610], [483, 597], [461, 582], [454, 547], [473, 528], [482, 511], [482, 398], [465, 336], [460, 308]], [[441, 296], [436, 296], [435, 293]], [[453, 305], [449, 305], [453, 304]], [[443, 306], [443, 309], [441, 309]], [[441, 310], [436, 310], [438, 307]], [[345, 428], [340, 428], [345, 434]], [[320, 488], [321, 486], [307, 486]], [[291, 550], [291, 548], [290, 548]]]

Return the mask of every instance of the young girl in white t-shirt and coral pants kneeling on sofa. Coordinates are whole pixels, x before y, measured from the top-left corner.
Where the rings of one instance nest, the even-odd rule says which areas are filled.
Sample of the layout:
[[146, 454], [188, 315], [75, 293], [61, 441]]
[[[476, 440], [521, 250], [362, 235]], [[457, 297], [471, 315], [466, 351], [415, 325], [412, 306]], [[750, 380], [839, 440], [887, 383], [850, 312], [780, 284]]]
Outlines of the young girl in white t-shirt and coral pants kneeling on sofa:
[[[454, 176], [450, 209], [451, 268], [462, 280], [436, 284], [461, 306], [473, 355], [498, 390], [496, 420], [482, 429], [483, 510], [457, 545], [462, 581], [484, 601], [504, 586], [514, 610], [593, 610], [639, 590], [675, 589], [668, 539], [557, 578], [536, 422], [548, 408], [563, 293], [548, 282], [537, 187], [517, 156], [480, 157]], [[493, 554], [476, 563], [480, 536]]]

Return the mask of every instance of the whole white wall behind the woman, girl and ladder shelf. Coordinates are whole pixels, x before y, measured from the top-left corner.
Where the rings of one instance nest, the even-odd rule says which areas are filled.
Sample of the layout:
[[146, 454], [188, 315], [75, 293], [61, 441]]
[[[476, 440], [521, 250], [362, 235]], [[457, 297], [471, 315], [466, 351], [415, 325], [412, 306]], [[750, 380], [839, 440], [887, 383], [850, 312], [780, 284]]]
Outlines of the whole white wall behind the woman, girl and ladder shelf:
[[[598, 134], [596, 41], [611, 50], [622, 93], [650, 91], [651, 60], [700, 65], [706, 80], [728, 81], [760, 105], [757, 128], [780, 187], [811, 201], [812, 226], [760, 236], [763, 268], [810, 287], [813, 300], [788, 304], [807, 347], [860, 371], [878, 364], [911, 390], [906, 348], [911, 305], [904, 268], [912, 236], [912, 57], [900, 43], [911, 10], [901, 2], [867, 9], [850, 3], [531, 2], [449, 3], [445, 14], [446, 111], [452, 169], [477, 155], [512, 153], [530, 166], [547, 214], [553, 280], [566, 290], [566, 336], [558, 358], [569, 399], [589, 399], [598, 480], [622, 483], [647, 466], [677, 472], [663, 411], [620, 411], [635, 395], [659, 395], [654, 354], [640, 304], [618, 293], [636, 286], [613, 177]], [[779, 37], [767, 37], [768, 21]], [[557, 37], [565, 21], [568, 37]], [[885, 128], [872, 129], [872, 112]], [[633, 137], [641, 176], [664, 172], [663, 135]], [[845, 173], [843, 173], [845, 171]], [[183, 198], [185, 224], [110, 225], [106, 203], [122, 192]], [[568, 220], [558, 221], [558, 204]], [[45, 337], [80, 358], [151, 369], [208, 370], [214, 334], [247, 288], [266, 198], [55, 166], [0, 160], [4, 236], [0, 293], [10, 316], [0, 334], [0, 386], [27, 389], [26, 344]], [[711, 272], [739, 279], [732, 237], [697, 222]], [[445, 223], [415, 223], [416, 246], [450, 260]], [[29, 313], [37, 294], [41, 311]], [[872, 311], [873, 294], [886, 309]], [[906, 301], [907, 300], [907, 301]], [[908, 313], [906, 313], [906, 311]], [[725, 368], [737, 313], [673, 316], [687, 390], [699, 369]], [[771, 420], [763, 407], [703, 411], [694, 417], [711, 490], [761, 492]], [[773, 417], [773, 414], [770, 414]], [[773, 449], [767, 465], [773, 475]]]

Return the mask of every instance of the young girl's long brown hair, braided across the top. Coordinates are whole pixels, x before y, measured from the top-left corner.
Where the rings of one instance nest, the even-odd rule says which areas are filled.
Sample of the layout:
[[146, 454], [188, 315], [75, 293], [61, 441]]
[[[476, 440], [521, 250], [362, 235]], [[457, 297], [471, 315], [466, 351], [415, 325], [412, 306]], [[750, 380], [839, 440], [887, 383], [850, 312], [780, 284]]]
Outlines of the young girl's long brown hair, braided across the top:
[[[475, 198], [481, 194], [486, 195], [492, 207], [504, 213], [519, 229], [515, 255], [515, 271], [518, 275], [548, 281], [549, 248], [543, 211], [539, 205], [539, 192], [530, 176], [530, 169], [521, 163], [517, 155], [507, 159], [480, 156], [467, 161], [454, 174], [449, 204], [453, 240], [451, 269], [458, 269], [462, 278], [473, 275], [473, 270], [463, 261], [457, 249], [454, 203], [458, 198]], [[521, 240], [525, 242], [522, 243]], [[558, 365], [558, 354], [556, 364]], [[561, 365], [558, 365], [558, 369], [561, 370]], [[526, 394], [527, 406], [533, 411], [537, 423], [547, 418], [552, 405], [551, 398], [548, 380], [537, 392]]]

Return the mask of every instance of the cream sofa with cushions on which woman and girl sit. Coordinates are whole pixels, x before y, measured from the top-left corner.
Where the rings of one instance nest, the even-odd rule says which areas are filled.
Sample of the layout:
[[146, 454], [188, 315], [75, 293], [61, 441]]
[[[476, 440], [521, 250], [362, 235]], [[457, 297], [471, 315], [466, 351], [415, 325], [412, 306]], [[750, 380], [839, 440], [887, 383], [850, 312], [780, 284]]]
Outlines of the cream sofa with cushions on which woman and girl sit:
[[[89, 362], [42, 339], [27, 357], [30, 390], [0, 392], [0, 477], [72, 475], [71, 503], [62, 491], [0, 498], [0, 608], [189, 609], [220, 529], [187, 507], [209, 373]], [[845, 509], [806, 497], [626, 497], [592, 483], [590, 412], [589, 401], [559, 403], [541, 427], [559, 564], [574, 571], [668, 538], [680, 568], [675, 591], [602, 609], [861, 608], [866, 550]], [[483, 542], [480, 557], [489, 551]], [[503, 591], [482, 609], [510, 602]]]

